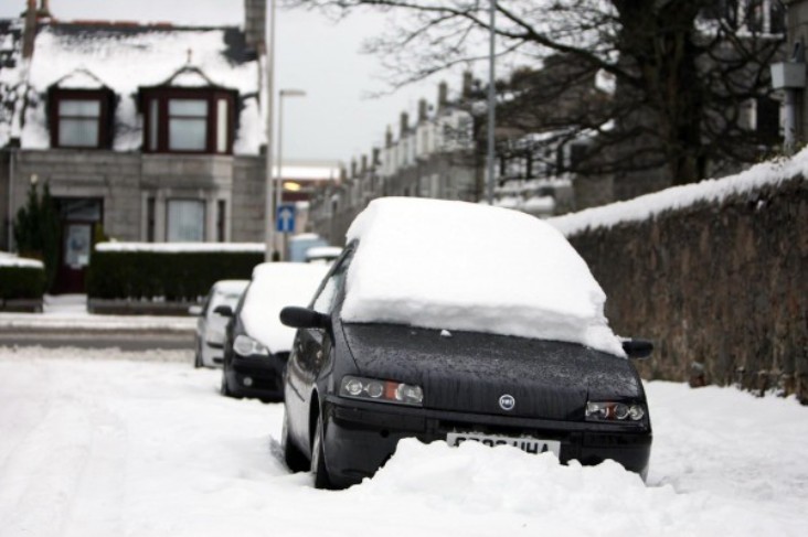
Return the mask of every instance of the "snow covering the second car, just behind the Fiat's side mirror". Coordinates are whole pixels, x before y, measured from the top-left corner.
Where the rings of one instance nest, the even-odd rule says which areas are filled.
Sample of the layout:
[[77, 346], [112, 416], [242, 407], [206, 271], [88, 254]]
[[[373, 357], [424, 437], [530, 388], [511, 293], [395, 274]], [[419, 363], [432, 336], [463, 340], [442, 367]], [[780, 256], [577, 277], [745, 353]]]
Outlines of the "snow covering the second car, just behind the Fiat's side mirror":
[[241, 311], [247, 334], [273, 353], [288, 352], [295, 329], [280, 324], [280, 310], [287, 305], [308, 305], [328, 270], [327, 265], [302, 262], [257, 265]]

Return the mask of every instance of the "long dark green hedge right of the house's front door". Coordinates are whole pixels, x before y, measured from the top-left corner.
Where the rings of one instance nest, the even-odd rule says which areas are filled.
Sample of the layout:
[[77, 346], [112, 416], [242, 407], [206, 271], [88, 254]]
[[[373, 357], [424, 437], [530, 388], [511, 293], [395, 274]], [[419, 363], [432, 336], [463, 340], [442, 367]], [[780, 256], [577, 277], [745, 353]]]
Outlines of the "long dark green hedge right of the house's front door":
[[257, 251], [104, 251], [87, 270], [91, 299], [196, 301], [219, 280], [249, 279]]

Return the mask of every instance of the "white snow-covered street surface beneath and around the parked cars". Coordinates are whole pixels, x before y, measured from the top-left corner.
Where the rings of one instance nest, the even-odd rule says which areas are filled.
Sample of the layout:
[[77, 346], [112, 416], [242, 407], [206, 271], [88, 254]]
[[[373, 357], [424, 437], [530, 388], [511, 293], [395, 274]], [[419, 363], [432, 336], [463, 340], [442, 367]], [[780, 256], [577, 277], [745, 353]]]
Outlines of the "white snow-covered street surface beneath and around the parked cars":
[[190, 352], [0, 347], [0, 535], [802, 536], [808, 408], [647, 385], [648, 484], [620, 466], [400, 444], [342, 492], [289, 474], [283, 405], [225, 399]]

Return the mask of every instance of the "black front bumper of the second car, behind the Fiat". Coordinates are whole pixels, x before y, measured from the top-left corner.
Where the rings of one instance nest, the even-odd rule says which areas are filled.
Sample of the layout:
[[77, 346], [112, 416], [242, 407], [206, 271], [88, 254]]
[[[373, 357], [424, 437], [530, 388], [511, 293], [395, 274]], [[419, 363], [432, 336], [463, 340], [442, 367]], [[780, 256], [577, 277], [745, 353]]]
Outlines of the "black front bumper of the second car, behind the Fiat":
[[277, 356], [233, 358], [225, 368], [227, 385], [234, 395], [283, 400], [286, 359]]

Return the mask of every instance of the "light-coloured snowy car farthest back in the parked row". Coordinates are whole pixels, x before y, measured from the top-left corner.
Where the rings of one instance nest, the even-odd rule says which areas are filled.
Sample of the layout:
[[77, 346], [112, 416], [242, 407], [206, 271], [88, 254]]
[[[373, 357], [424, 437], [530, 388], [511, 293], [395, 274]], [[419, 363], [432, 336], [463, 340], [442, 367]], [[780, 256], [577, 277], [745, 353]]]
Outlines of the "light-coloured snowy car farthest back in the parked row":
[[228, 319], [216, 313], [220, 305], [235, 308], [249, 280], [221, 280], [215, 282], [202, 307], [191, 307], [191, 314], [199, 315], [194, 336], [194, 367], [215, 367], [222, 364], [224, 330]]

